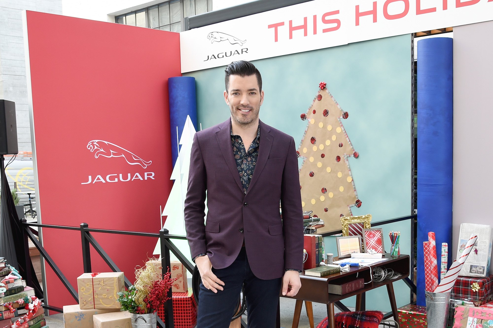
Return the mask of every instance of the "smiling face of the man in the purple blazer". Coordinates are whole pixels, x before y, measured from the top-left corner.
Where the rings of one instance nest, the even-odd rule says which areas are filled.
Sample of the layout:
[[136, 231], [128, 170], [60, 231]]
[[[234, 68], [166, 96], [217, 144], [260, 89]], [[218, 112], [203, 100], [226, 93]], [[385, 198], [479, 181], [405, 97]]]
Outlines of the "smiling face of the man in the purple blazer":
[[224, 100], [231, 111], [231, 119], [238, 125], [248, 126], [258, 119], [264, 92], [259, 90], [255, 74], [241, 77], [229, 76], [229, 90], [224, 91]]

